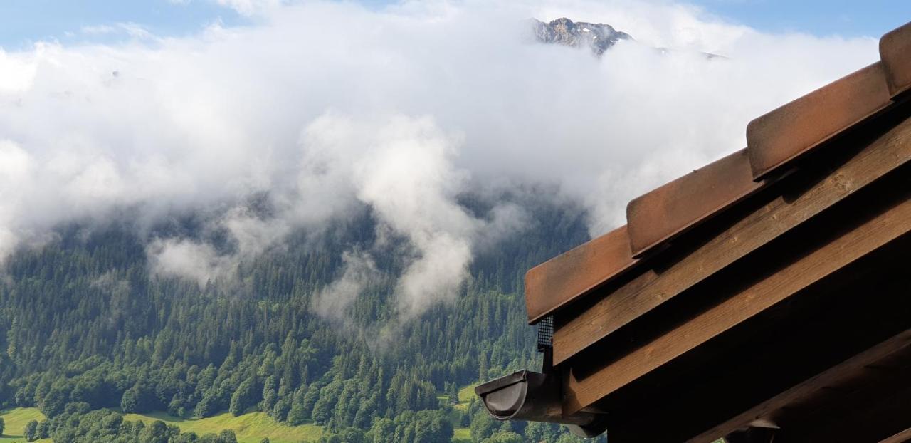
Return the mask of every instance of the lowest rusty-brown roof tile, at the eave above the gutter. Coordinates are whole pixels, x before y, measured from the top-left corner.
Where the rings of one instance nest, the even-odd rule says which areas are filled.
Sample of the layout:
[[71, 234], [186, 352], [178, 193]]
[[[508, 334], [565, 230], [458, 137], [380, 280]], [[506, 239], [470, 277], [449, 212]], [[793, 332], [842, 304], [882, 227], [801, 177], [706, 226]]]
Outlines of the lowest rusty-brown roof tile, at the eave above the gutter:
[[528, 323], [536, 323], [634, 263], [627, 228], [622, 226], [538, 264], [525, 274]]

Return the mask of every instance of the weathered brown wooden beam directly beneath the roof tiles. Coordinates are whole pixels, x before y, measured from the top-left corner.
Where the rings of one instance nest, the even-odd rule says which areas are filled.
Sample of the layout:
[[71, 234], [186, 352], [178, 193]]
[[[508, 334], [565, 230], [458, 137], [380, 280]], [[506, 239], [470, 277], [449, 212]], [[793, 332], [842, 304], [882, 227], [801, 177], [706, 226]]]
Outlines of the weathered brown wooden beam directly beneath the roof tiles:
[[[906, 110], [902, 112], [906, 118]], [[595, 293], [600, 300], [589, 309], [565, 321], [558, 318], [554, 333], [555, 365], [810, 220], [908, 160], [911, 160], [911, 119], [906, 118], [796, 198], [785, 195], [775, 198], [665, 270], [646, 270], [611, 293]]]

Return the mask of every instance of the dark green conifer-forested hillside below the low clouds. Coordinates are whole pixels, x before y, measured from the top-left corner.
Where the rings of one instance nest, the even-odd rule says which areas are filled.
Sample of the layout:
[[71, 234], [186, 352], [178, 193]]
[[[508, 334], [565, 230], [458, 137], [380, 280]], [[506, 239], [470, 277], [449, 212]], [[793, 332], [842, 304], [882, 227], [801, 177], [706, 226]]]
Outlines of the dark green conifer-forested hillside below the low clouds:
[[[0, 408], [38, 407], [50, 418], [34, 436], [56, 441], [135, 441], [142, 431], [148, 441], [193, 441], [103, 412], [79, 425], [90, 410], [118, 407], [175, 417], [263, 411], [321, 425], [327, 441], [449, 441], [466, 427], [476, 441], [556, 440], [556, 427], [501, 425], [476, 401], [452, 407], [460, 386], [540, 366], [522, 278], [584, 241], [585, 229], [574, 208], [533, 213], [525, 232], [476, 257], [455, 304], [402, 322], [383, 279], [343, 317], [313, 313], [313, 294], [340, 273], [338, 251], [372, 241], [369, 214], [333, 232], [299, 232], [202, 287], [151, 275], [144, 240], [123, 223], [62, 227], [4, 265]], [[192, 223], [160, 229], [191, 232]], [[394, 268], [394, 255], [379, 266]]]

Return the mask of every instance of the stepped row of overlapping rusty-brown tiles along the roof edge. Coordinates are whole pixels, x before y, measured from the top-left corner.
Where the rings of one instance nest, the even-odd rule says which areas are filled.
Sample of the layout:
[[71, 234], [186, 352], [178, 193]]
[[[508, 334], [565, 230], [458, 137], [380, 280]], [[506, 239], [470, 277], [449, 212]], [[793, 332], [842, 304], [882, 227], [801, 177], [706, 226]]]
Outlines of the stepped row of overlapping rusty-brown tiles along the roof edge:
[[[874, 64], [754, 118], [746, 128], [745, 149], [630, 201], [627, 225], [528, 271], [529, 323], [609, 283], [649, 252], [780, 179], [799, 167], [802, 156], [844, 131], [896, 108], [911, 88], [911, 24], [883, 36], [879, 52]], [[592, 267], [592, 260], [604, 263]]]

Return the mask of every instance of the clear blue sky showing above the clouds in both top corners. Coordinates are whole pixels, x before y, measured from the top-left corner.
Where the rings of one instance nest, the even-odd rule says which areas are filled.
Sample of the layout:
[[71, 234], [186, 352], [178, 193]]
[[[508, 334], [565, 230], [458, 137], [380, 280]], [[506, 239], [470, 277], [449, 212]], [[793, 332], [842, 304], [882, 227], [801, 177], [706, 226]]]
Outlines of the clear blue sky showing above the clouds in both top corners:
[[[364, 3], [382, 6], [384, 0]], [[911, 20], [908, 0], [694, 0], [712, 15], [767, 32], [816, 36], [880, 36]], [[584, 20], [585, 17], [574, 17]], [[159, 36], [194, 33], [220, 22], [241, 25], [249, 18], [215, 0], [0, 0], [0, 46], [7, 50], [39, 40], [61, 43], [118, 38], [103, 26], [132, 23]], [[91, 35], [80, 32], [96, 29]], [[119, 33], [122, 35], [123, 32]]]

